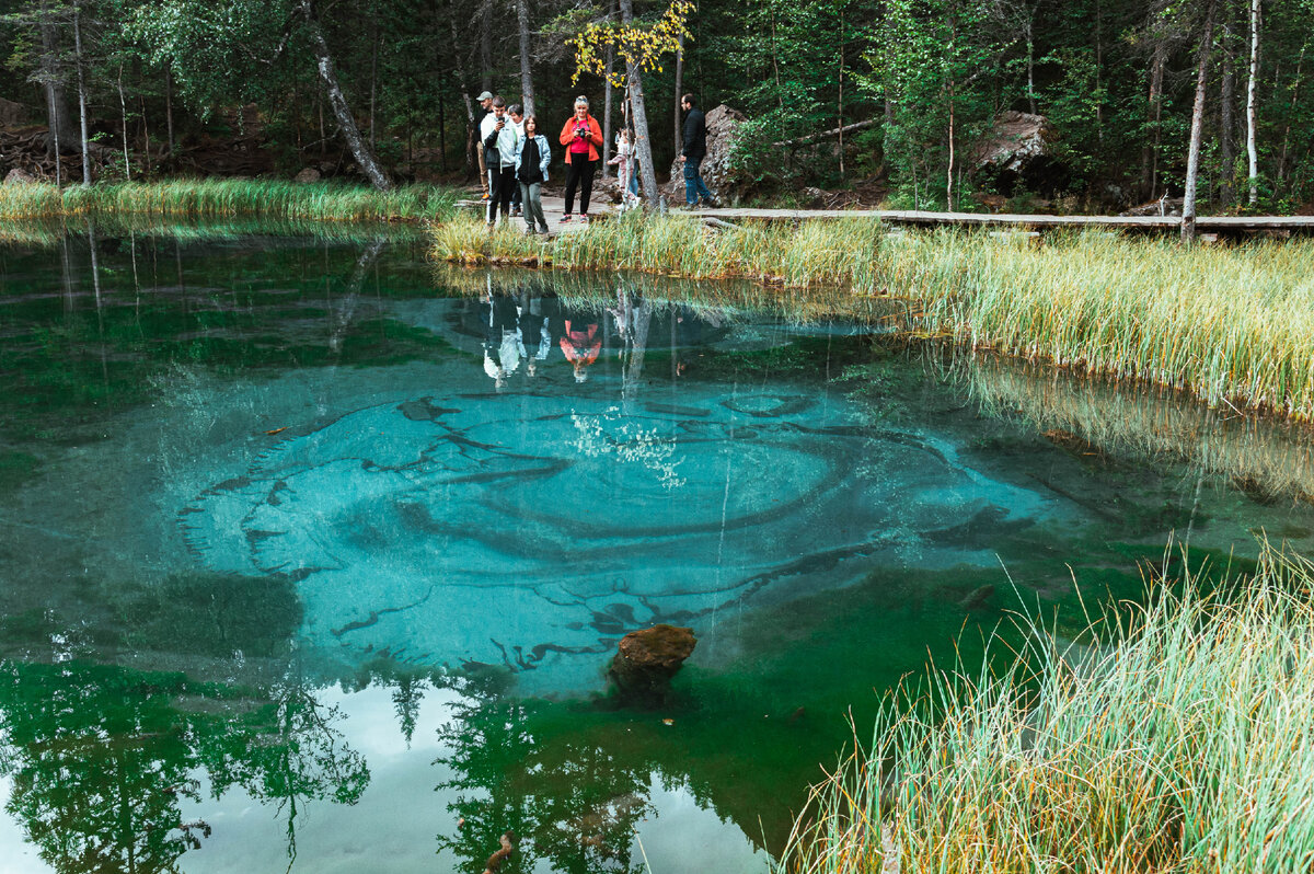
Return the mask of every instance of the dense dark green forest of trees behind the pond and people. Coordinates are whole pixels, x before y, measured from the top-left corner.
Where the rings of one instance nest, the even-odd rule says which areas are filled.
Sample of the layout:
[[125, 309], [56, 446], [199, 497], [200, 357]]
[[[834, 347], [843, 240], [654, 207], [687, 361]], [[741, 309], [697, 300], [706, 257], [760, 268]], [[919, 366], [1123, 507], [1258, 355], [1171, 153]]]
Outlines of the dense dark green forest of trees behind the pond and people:
[[[1306, 212], [1311, 14], [1314, 0], [4, 0], [0, 172], [468, 184], [486, 89], [549, 130], [586, 95], [608, 142], [640, 116], [664, 176], [687, 92], [746, 117], [732, 167], [757, 202], [828, 189], [1076, 213], [1189, 192], [1201, 212]], [[581, 34], [622, 22], [631, 35], [585, 63]], [[662, 38], [627, 66], [644, 28]], [[625, 110], [636, 84], [644, 113]], [[1010, 110], [1042, 117], [1043, 160], [1022, 173], [980, 160]]]

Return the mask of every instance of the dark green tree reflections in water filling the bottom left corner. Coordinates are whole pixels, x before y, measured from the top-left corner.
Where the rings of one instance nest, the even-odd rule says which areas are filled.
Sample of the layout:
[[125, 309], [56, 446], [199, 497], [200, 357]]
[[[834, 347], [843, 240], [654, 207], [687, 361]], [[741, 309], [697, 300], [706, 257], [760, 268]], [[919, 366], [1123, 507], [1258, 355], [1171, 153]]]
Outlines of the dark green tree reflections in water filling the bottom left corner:
[[[198, 708], [179, 703], [188, 701]], [[0, 662], [7, 810], [57, 871], [172, 871], [210, 833], [180, 812], [184, 798], [198, 800], [193, 774], [204, 769], [215, 796], [240, 786], [286, 808], [294, 856], [298, 803], [355, 803], [369, 782], [335, 720], [297, 682], [260, 690], [252, 706], [183, 674]]]

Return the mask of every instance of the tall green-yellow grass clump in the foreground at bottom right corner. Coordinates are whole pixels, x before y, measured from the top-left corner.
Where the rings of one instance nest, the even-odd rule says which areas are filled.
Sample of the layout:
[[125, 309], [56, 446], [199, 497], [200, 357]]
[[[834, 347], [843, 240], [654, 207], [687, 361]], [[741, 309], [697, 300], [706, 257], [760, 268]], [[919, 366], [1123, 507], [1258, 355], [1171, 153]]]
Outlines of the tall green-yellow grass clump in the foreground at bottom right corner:
[[1255, 574], [1209, 594], [1188, 573], [1084, 647], [1020, 622], [1028, 644], [995, 640], [987, 668], [891, 694], [782, 870], [1310, 870], [1311, 586], [1265, 547]]

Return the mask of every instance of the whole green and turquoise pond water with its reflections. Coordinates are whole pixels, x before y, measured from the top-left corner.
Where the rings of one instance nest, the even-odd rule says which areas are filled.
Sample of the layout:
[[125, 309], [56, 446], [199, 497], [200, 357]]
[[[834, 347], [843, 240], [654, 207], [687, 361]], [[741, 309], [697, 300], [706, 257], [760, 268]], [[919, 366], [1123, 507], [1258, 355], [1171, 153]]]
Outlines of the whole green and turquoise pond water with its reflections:
[[1314, 551], [1298, 430], [246, 230], [0, 233], [0, 871], [765, 871], [928, 656]]

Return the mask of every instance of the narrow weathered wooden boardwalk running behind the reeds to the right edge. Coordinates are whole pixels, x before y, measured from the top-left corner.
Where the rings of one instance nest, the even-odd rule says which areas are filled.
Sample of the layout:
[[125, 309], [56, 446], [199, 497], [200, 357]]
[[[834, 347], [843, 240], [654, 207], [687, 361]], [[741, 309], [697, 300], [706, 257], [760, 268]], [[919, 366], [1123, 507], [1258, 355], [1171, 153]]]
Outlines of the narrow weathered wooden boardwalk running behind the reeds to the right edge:
[[[721, 221], [800, 221], [807, 218], [878, 218], [891, 225], [958, 225], [1000, 230], [1058, 227], [1110, 227], [1141, 231], [1177, 231], [1180, 216], [1030, 216], [1008, 213], [929, 213], [899, 209], [690, 209], [699, 218]], [[1314, 216], [1200, 216], [1200, 233], [1294, 231], [1314, 233]]]

